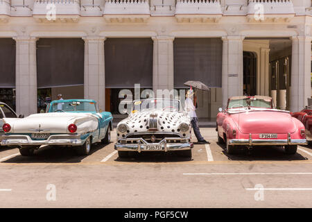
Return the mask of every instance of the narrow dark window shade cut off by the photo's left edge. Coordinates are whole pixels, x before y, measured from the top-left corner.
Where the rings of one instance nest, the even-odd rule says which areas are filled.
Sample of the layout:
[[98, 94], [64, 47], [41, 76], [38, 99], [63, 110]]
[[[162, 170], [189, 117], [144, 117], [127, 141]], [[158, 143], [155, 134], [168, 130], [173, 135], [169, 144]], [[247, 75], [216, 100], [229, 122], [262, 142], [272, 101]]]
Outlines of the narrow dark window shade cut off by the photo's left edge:
[[15, 87], [15, 41], [0, 38], [0, 87]]

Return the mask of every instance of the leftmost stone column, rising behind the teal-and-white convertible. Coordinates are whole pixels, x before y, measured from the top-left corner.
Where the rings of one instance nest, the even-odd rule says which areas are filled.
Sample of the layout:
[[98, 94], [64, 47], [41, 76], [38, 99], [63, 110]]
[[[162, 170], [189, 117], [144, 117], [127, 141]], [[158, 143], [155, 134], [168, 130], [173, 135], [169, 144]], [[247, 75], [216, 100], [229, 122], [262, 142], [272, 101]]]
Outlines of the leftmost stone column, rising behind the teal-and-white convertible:
[[37, 113], [36, 37], [13, 37], [16, 42], [16, 112]]

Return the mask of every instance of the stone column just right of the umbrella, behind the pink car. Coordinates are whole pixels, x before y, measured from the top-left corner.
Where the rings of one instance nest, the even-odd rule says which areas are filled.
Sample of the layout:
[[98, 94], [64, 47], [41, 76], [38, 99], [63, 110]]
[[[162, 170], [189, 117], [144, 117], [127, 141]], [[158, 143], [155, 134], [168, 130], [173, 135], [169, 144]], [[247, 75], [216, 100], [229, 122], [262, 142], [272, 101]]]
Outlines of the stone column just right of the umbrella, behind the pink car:
[[222, 105], [231, 96], [243, 95], [243, 36], [223, 37]]

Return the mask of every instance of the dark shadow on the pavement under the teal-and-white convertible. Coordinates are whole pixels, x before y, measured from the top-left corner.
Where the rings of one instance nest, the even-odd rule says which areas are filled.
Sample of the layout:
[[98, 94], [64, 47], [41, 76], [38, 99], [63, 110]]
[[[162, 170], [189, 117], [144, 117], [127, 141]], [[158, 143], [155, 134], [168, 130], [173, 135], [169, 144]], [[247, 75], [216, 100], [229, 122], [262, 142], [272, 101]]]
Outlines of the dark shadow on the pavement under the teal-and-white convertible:
[[[108, 144], [92, 144], [89, 155], [105, 146]], [[35, 151], [33, 156], [18, 155], [3, 161], [3, 163], [78, 163], [89, 155], [78, 155], [75, 148], [71, 146], [44, 146]]]

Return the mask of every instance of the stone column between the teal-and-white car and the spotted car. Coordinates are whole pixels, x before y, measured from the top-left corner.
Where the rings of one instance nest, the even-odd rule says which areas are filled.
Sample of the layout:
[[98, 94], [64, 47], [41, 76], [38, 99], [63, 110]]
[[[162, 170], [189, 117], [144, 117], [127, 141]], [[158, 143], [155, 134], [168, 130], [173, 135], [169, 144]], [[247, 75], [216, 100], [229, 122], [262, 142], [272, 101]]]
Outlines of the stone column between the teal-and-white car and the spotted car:
[[88, 36], [85, 40], [84, 97], [94, 99], [98, 110], [105, 111], [105, 37]]

